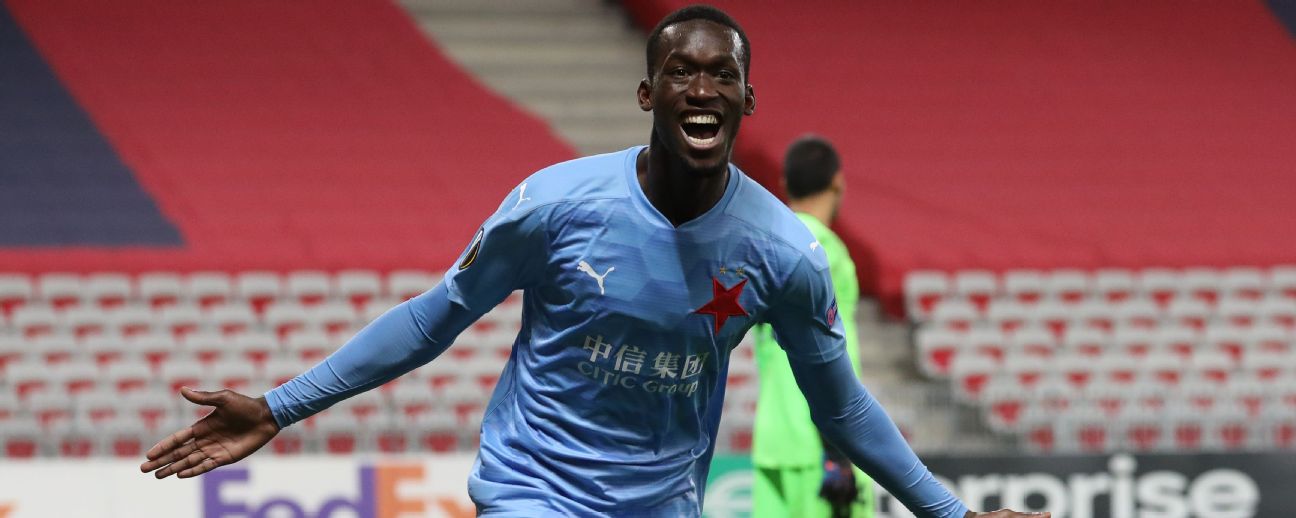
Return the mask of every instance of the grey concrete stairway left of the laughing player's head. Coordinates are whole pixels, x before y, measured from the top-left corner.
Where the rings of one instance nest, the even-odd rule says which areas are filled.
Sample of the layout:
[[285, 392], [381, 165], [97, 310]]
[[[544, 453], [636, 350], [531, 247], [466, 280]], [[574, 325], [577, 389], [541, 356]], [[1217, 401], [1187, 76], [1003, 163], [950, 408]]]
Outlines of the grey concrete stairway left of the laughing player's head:
[[403, 0], [434, 44], [581, 154], [644, 144], [644, 35], [601, 0]]

